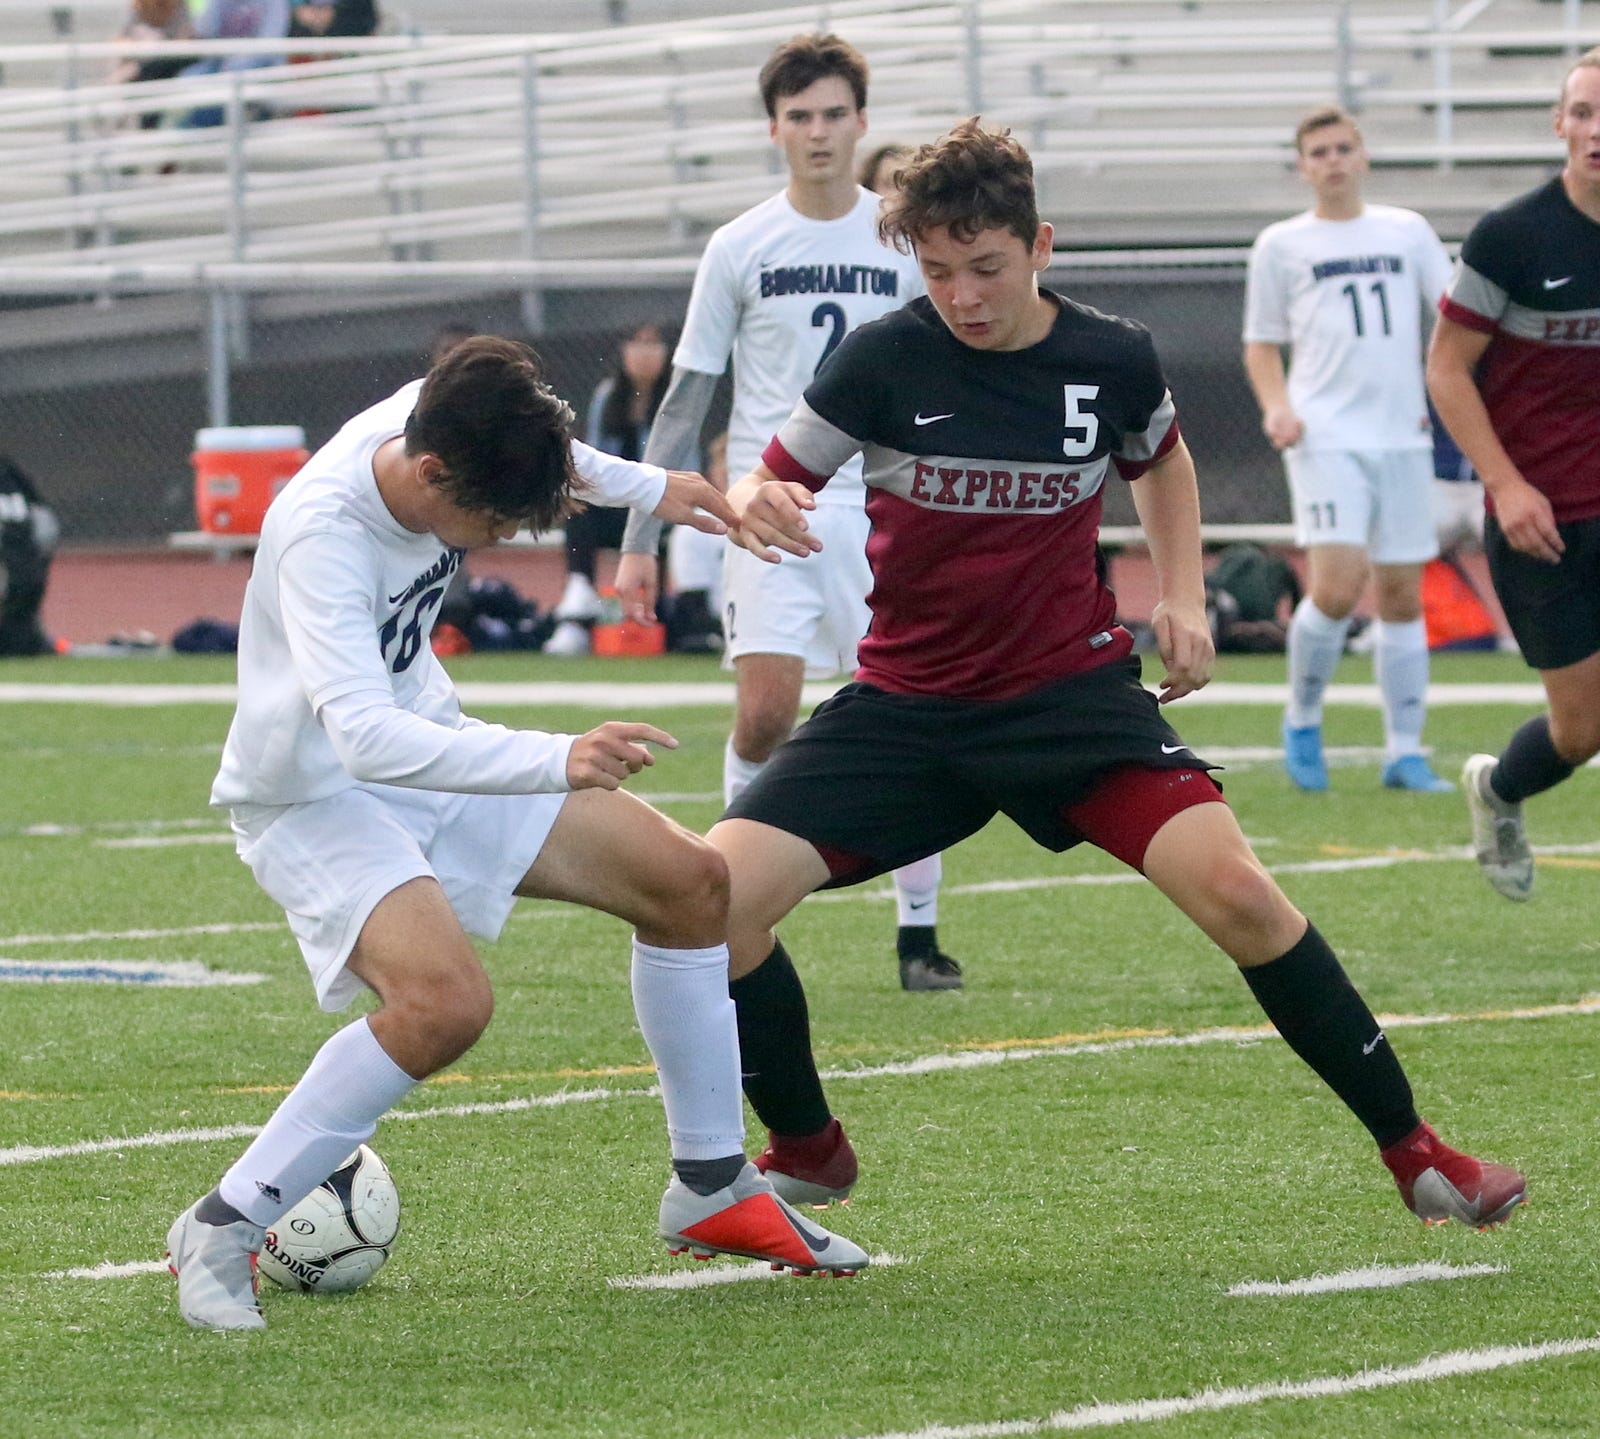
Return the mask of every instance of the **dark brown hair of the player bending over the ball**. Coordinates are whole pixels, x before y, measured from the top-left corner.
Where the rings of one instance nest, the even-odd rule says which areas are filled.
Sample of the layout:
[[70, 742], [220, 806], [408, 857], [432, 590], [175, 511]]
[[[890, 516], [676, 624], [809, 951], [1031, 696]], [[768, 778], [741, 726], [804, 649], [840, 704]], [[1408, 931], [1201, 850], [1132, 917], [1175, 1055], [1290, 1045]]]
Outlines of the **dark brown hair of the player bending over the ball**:
[[581, 483], [573, 410], [544, 383], [539, 357], [498, 335], [474, 335], [422, 381], [405, 426], [406, 455], [437, 455], [438, 485], [462, 509], [550, 528]]

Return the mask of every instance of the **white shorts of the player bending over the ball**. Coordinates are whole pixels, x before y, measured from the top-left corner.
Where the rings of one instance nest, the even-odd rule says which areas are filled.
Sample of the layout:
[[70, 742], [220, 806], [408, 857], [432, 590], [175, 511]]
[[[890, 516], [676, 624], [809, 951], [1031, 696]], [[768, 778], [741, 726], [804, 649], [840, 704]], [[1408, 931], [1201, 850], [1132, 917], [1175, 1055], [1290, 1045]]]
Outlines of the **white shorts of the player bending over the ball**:
[[357, 784], [282, 810], [238, 808], [234, 834], [288, 916], [317, 1002], [342, 1010], [366, 988], [346, 964], [379, 900], [432, 876], [464, 930], [498, 938], [565, 800]]

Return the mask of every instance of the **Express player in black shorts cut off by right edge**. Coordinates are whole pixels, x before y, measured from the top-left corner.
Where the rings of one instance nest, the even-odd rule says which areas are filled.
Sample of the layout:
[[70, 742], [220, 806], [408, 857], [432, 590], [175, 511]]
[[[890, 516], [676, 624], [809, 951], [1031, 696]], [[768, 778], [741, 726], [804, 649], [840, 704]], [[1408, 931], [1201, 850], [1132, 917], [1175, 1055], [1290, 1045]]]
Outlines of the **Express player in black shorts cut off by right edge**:
[[1483, 480], [1494, 592], [1549, 711], [1461, 775], [1485, 879], [1533, 893], [1523, 800], [1600, 752], [1600, 48], [1555, 106], [1566, 165], [1483, 216], [1440, 304], [1427, 383]]

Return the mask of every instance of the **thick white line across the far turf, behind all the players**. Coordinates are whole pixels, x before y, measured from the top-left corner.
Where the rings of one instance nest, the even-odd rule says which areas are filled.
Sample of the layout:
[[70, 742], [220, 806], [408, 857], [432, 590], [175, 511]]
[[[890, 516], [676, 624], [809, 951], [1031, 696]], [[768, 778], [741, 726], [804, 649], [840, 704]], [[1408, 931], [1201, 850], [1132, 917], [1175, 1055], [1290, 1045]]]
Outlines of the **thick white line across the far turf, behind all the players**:
[[[821, 704], [842, 682], [811, 683], [802, 691], [803, 704]], [[637, 706], [640, 709], [682, 709], [685, 706], [733, 704], [733, 683], [494, 683], [458, 685], [464, 704], [576, 704], [597, 709]], [[1218, 680], [1184, 698], [1194, 704], [1272, 704], [1288, 703], [1288, 685], [1250, 685]], [[235, 685], [0, 685], [0, 704], [235, 704]], [[1382, 704], [1378, 685], [1330, 685], [1326, 704]], [[1544, 687], [1538, 683], [1429, 685], [1427, 703], [1437, 704], [1533, 704], [1544, 707]]]

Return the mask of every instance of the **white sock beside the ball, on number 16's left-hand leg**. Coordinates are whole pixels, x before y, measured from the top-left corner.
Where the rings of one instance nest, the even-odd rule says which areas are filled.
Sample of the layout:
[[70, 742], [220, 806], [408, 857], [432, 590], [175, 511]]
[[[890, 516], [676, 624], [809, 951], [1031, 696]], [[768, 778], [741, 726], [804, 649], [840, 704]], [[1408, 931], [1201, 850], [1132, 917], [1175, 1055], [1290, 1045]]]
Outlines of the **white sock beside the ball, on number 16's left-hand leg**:
[[334, 1034], [238, 1162], [222, 1199], [253, 1225], [272, 1225], [378, 1128], [416, 1080], [389, 1058], [366, 1020]]

